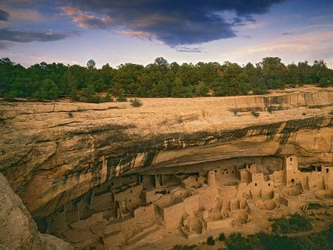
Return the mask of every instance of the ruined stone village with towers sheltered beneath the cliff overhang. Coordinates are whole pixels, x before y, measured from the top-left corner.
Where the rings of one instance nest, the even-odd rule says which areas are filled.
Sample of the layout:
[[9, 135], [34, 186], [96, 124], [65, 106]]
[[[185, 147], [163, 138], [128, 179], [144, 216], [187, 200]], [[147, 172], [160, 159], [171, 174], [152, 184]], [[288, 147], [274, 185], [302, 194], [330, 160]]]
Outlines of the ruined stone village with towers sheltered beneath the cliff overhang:
[[[252, 162], [251, 162], [252, 161]], [[140, 246], [181, 232], [260, 224], [309, 202], [333, 205], [333, 171], [296, 155], [157, 168], [115, 177], [39, 218], [39, 230], [77, 249]], [[333, 213], [333, 207], [325, 213]]]

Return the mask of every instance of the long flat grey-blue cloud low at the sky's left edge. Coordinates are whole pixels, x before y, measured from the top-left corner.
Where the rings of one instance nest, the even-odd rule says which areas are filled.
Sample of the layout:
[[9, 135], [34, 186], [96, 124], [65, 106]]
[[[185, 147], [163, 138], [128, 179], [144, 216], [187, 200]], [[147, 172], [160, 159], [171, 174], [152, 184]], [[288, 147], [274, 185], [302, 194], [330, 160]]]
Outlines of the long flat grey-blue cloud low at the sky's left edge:
[[77, 35], [76, 31], [69, 32], [52, 32], [52, 31], [27, 31], [27, 30], [10, 30], [8, 28], [0, 29], [0, 48], [8, 46], [10, 42], [51, 42], [71, 35]]

